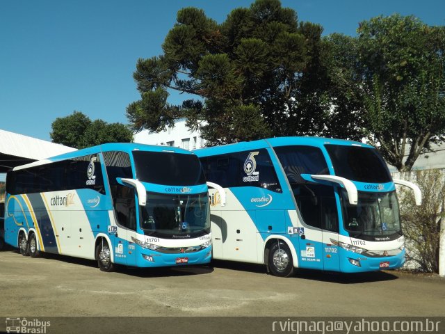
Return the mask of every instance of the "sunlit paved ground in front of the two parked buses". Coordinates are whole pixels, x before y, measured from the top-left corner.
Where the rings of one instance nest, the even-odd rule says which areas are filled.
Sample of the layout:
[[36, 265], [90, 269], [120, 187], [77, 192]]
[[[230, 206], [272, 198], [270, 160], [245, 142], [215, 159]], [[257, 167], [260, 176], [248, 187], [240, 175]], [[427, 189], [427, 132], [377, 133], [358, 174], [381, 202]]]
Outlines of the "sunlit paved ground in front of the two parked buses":
[[121, 269], [95, 262], [0, 252], [0, 316], [444, 316], [445, 279], [400, 272], [362, 275], [262, 266]]

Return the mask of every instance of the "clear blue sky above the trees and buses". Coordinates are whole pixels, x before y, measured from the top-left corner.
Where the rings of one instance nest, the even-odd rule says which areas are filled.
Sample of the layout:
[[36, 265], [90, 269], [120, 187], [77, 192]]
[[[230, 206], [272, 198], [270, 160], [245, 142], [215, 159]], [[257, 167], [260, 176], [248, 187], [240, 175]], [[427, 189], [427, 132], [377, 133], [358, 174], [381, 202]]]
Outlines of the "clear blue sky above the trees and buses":
[[[204, 9], [223, 22], [245, 0], [0, 0], [0, 129], [50, 140], [51, 122], [82, 111], [92, 120], [127, 123], [139, 99], [138, 58], [162, 53], [180, 8]], [[445, 25], [444, 0], [282, 0], [324, 34], [355, 35], [377, 15], [415, 15]], [[180, 102], [181, 95], [169, 102]]]

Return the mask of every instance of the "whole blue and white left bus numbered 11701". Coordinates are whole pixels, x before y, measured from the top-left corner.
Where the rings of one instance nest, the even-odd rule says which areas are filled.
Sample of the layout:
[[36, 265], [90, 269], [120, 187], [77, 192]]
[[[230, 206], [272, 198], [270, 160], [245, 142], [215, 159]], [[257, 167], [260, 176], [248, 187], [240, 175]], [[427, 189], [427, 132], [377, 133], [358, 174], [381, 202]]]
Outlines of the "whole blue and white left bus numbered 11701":
[[112, 143], [13, 168], [5, 240], [41, 252], [165, 267], [211, 260], [208, 186], [195, 154]]

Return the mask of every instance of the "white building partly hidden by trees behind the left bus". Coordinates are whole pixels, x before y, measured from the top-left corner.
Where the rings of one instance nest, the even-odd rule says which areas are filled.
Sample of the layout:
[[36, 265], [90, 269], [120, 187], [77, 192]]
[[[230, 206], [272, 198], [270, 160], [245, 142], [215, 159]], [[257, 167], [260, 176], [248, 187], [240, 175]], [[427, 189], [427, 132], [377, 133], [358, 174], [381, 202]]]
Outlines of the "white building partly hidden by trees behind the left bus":
[[175, 127], [168, 127], [163, 132], [149, 132], [143, 130], [134, 135], [135, 143], [147, 145], [167, 145], [185, 150], [195, 150], [203, 148], [205, 142], [201, 138], [200, 132], [191, 132], [186, 127], [186, 120], [178, 120]]

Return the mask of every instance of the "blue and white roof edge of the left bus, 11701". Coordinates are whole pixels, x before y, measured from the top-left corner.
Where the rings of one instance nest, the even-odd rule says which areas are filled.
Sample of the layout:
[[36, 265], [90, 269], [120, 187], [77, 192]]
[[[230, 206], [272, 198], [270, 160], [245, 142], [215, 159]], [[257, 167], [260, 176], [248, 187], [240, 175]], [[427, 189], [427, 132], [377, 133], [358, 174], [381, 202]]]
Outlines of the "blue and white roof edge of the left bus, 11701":
[[171, 146], [145, 145], [145, 144], [138, 144], [138, 143], [107, 143], [107, 144], [92, 146], [91, 148], [83, 148], [81, 150], [77, 150], [74, 152], [67, 152], [67, 153], [56, 155], [55, 157], [50, 157], [50, 158], [43, 159], [43, 160], [38, 160], [38, 161], [32, 162], [31, 164], [18, 166], [16, 168], [14, 168], [13, 170], [29, 168], [29, 167], [33, 167], [33, 166], [40, 166], [40, 165], [44, 165], [44, 164], [50, 164], [51, 162], [55, 162], [55, 161], [62, 161], [65, 159], [82, 157], [84, 155], [95, 154], [95, 153], [99, 153], [99, 152], [120, 151], [120, 152], [131, 153], [135, 150], [144, 150], [144, 151], [149, 151], [149, 152], [173, 152], [173, 153], [181, 153], [181, 154], [193, 154], [192, 152], [190, 152], [188, 150], [184, 150], [182, 148], [174, 148]]

